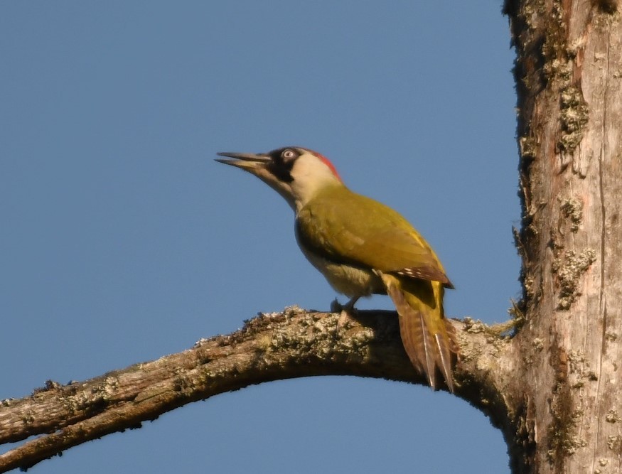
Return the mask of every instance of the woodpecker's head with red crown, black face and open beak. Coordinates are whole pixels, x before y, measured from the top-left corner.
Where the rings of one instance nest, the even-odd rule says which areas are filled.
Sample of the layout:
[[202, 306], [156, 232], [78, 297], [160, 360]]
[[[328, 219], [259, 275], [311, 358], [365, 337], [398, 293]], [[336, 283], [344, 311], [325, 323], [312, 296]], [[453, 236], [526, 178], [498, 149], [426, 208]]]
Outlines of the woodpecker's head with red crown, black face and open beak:
[[216, 161], [248, 171], [267, 183], [300, 210], [326, 186], [343, 186], [328, 158], [299, 146], [286, 146], [268, 153], [218, 153], [233, 159]]

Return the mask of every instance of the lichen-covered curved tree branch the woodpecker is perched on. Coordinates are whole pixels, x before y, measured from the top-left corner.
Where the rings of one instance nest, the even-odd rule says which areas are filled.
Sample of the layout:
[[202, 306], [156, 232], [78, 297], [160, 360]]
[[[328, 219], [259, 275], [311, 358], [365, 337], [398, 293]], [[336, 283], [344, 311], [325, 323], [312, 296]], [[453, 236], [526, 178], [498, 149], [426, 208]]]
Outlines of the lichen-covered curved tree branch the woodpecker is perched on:
[[[462, 357], [457, 394], [508, 426], [500, 387], [511, 367], [499, 367], [511, 341], [470, 319], [452, 321]], [[504, 362], [506, 363], [506, 362]], [[43, 435], [0, 455], [0, 472], [29, 468], [63, 450], [141, 426], [166, 411], [277, 379], [358, 375], [427, 384], [402, 348], [392, 311], [356, 316], [286, 308], [261, 314], [230, 335], [200, 340], [189, 350], [108, 372], [85, 382], [48, 381], [30, 397], [0, 402], [0, 443]], [[505, 430], [504, 430], [505, 431]]]

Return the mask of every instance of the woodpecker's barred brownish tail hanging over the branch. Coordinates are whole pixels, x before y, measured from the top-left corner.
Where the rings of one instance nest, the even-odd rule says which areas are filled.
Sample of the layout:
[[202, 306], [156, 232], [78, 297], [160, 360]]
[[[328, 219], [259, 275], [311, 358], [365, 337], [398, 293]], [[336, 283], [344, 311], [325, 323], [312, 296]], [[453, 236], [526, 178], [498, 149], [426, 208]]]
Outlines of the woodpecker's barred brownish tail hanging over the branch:
[[426, 375], [430, 387], [438, 388], [441, 372], [450, 392], [454, 392], [454, 367], [458, 352], [453, 326], [443, 316], [441, 284], [431, 281], [401, 281], [382, 274], [387, 294], [400, 316], [402, 344], [412, 365]]

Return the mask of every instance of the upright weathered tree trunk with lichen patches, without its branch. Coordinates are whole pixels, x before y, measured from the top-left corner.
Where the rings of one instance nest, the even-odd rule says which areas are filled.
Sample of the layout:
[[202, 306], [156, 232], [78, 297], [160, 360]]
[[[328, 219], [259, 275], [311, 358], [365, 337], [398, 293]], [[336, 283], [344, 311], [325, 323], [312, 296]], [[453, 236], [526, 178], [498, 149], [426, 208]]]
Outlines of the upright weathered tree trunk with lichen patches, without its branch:
[[517, 473], [622, 472], [622, 23], [617, 1], [507, 1], [527, 323], [505, 394]]

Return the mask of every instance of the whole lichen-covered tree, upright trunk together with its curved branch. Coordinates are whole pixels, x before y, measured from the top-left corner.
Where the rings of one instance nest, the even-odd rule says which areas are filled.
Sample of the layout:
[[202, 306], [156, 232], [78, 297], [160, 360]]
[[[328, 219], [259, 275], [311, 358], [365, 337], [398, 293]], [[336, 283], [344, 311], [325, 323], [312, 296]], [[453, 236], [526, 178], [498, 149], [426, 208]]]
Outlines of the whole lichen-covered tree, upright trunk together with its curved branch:
[[[525, 323], [512, 339], [454, 322], [456, 395], [490, 416], [515, 473], [622, 472], [622, 22], [617, 0], [507, 0], [517, 51]], [[395, 316], [395, 315], [394, 315]], [[362, 375], [425, 384], [396, 318], [301, 310], [97, 379], [0, 401], [0, 472], [213, 394]]]

